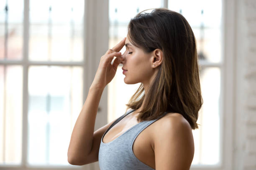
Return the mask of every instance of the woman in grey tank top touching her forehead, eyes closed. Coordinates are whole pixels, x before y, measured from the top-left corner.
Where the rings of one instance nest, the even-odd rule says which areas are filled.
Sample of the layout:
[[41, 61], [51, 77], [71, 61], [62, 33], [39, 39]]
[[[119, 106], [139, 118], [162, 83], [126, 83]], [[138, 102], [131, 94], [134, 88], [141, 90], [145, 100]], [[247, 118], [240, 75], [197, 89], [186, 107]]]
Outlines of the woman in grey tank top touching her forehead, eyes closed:
[[[143, 12], [131, 19], [127, 37], [100, 59], [72, 132], [68, 150], [72, 165], [99, 161], [101, 170], [191, 166], [192, 129], [198, 128], [202, 105], [195, 36], [179, 13], [164, 8]], [[127, 104], [130, 110], [94, 132], [102, 91], [119, 64], [126, 84], [141, 85]]]

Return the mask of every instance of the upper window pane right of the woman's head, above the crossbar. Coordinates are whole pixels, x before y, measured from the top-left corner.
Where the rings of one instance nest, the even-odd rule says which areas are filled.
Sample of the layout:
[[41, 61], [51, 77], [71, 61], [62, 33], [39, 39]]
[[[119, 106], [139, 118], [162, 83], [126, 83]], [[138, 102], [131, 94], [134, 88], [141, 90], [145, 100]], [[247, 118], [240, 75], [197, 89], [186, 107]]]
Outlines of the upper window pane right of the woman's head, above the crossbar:
[[197, 39], [200, 59], [220, 62], [222, 1], [169, 0], [168, 8], [181, 13], [187, 19]]

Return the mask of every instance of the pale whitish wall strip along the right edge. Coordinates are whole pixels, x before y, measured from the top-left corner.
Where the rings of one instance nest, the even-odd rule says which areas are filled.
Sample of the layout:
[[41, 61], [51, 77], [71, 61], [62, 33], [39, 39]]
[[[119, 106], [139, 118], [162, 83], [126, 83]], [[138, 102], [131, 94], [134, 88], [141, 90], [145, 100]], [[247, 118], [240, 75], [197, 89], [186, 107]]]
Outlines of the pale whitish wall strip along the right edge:
[[234, 169], [256, 170], [256, 0], [236, 1]]

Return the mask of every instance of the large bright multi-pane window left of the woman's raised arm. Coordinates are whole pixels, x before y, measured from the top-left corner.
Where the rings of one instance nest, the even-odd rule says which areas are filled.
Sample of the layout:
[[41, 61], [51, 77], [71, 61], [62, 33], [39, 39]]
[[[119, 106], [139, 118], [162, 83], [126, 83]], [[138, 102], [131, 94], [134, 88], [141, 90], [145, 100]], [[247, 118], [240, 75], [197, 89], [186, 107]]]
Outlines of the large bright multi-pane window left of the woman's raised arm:
[[8, 0], [0, 9], [0, 166], [74, 167], [67, 149], [83, 104], [84, 0]]

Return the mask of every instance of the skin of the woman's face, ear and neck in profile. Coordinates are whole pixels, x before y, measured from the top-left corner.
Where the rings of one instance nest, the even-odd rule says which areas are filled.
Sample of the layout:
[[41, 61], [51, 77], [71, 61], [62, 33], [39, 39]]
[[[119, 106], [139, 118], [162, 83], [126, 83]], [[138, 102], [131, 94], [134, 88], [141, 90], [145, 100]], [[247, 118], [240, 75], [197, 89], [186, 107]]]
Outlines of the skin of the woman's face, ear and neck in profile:
[[[144, 52], [141, 48], [136, 47], [130, 41], [130, 37], [127, 35], [125, 39], [125, 52], [121, 57], [121, 64], [123, 68], [128, 70], [124, 73], [124, 82], [126, 84], [143, 83], [145, 93], [147, 93], [151, 82], [156, 76], [159, 65], [162, 63], [163, 52], [156, 49], [150, 53]], [[139, 73], [139, 74], [138, 74]], [[143, 107], [143, 104], [141, 108]], [[139, 112], [138, 109], [136, 112]]]

